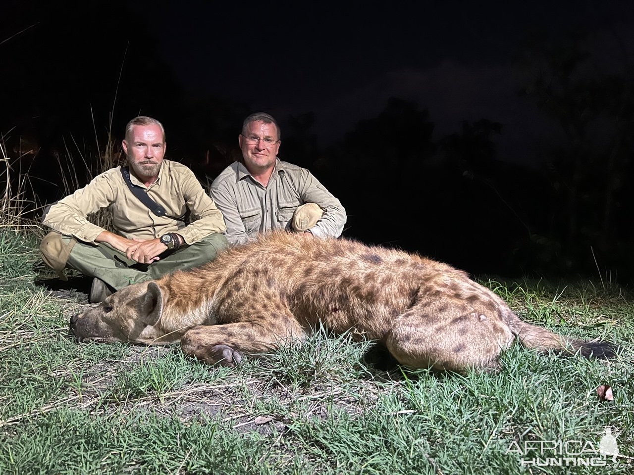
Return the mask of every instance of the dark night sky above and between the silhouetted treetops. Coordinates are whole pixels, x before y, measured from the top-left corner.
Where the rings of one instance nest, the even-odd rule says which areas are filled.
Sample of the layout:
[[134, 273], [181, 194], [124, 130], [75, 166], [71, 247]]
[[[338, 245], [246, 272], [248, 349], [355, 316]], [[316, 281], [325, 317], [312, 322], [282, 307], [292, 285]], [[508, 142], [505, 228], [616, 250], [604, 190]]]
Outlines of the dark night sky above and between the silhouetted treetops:
[[313, 111], [322, 143], [377, 115], [391, 96], [413, 99], [437, 134], [462, 120], [502, 122], [502, 155], [524, 162], [548, 125], [517, 98], [512, 61], [522, 41], [587, 30], [601, 68], [621, 61], [619, 40], [634, 46], [630, 1], [186, 5], [146, 13], [165, 61], [193, 94], [221, 94], [282, 120]]

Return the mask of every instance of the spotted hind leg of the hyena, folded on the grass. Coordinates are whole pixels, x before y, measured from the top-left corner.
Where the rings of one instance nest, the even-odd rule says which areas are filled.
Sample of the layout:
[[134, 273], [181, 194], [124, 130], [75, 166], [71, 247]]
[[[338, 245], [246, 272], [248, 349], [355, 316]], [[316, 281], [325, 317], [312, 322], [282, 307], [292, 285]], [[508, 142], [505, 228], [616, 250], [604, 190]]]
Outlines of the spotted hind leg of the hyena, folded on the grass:
[[513, 341], [510, 329], [495, 315], [453, 310], [460, 312], [429, 315], [424, 307], [411, 308], [397, 317], [385, 341], [387, 349], [399, 363], [415, 368], [499, 371], [497, 358]]

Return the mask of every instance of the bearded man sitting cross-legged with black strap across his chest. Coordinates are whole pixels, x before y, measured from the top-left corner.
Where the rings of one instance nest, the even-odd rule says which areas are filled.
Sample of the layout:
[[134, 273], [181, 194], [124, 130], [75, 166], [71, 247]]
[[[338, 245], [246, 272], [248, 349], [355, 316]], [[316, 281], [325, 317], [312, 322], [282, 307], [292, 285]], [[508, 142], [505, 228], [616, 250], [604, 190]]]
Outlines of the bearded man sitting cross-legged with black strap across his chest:
[[[164, 159], [158, 120], [131, 120], [122, 146], [129, 168], [103, 172], [42, 218], [53, 229], [40, 245], [42, 260], [63, 280], [68, 267], [93, 277], [91, 303], [130, 284], [198, 267], [228, 246], [223, 215], [193, 172]], [[115, 232], [87, 220], [100, 208], [112, 210]]]

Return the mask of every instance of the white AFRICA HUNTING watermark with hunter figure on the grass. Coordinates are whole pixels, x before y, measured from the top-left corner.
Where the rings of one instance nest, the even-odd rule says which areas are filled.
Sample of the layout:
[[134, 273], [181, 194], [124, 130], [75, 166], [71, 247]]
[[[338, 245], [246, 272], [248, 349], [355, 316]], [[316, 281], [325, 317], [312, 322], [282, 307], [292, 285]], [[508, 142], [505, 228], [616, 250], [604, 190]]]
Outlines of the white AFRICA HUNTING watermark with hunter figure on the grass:
[[[512, 441], [505, 455], [517, 455], [521, 466], [605, 467], [618, 464], [620, 432], [604, 428], [601, 440], [529, 440]], [[629, 458], [629, 457], [628, 457]]]

